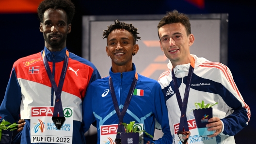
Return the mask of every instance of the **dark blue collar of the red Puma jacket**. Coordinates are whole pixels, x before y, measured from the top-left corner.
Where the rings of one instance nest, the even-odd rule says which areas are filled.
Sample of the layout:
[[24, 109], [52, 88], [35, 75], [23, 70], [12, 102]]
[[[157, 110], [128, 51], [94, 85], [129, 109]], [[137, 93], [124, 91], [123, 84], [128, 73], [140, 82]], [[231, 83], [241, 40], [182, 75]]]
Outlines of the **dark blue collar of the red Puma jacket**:
[[[44, 48], [43, 51], [45, 51], [45, 56], [47, 58], [48, 61], [53, 61], [55, 60], [55, 62], [60, 62], [60, 61], [63, 61], [64, 58], [65, 58], [65, 55], [66, 55], [66, 47], [64, 47], [64, 49], [62, 49], [61, 51], [58, 51], [58, 52], [52, 52], [52, 51], [49, 51], [48, 48]], [[43, 51], [41, 51], [41, 56], [43, 54]]]

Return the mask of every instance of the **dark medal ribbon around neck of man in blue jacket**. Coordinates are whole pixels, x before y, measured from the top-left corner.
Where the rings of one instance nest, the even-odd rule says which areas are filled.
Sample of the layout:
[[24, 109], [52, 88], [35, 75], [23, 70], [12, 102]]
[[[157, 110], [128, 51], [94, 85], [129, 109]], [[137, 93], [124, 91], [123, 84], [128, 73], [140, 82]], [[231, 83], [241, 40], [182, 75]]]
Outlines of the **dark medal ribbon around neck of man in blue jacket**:
[[[118, 106], [118, 102], [117, 102], [117, 99], [116, 99], [116, 96], [115, 96], [112, 78], [110, 77], [110, 79], [109, 79], [109, 86], [110, 86], [110, 92], [111, 92], [111, 96], [112, 96], [112, 101], [113, 101], [113, 104], [114, 104], [115, 112], [116, 112], [116, 114], [117, 114], [117, 116], [119, 118], [117, 133], [118, 132], [125, 132], [124, 126], [122, 125], [122, 123], [123, 123], [123, 119], [124, 119], [124, 116], [126, 114], [126, 111], [128, 109], [128, 106], [130, 104], [131, 97], [133, 95], [133, 91], [134, 91], [135, 86], [137, 84], [137, 78], [138, 78], [138, 74], [136, 72], [135, 76], [133, 78], [133, 81], [131, 83], [131, 86], [130, 86], [130, 89], [129, 89], [129, 92], [128, 92], [128, 96], [126, 98], [126, 101], [125, 101], [125, 104], [124, 104], [122, 112], [120, 112], [120, 109], [119, 109], [119, 106]], [[116, 138], [120, 139], [120, 134], [116, 134]]]

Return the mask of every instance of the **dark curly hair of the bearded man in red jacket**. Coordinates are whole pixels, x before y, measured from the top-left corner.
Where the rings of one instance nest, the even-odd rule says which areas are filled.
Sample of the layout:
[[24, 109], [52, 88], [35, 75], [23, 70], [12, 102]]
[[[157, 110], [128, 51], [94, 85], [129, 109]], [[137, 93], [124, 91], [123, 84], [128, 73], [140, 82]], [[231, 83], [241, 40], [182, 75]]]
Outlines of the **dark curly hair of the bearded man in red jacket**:
[[71, 23], [75, 14], [75, 5], [71, 0], [43, 0], [37, 8], [38, 17], [42, 23], [44, 21], [44, 13], [49, 8], [54, 10], [63, 9], [67, 15], [67, 24]]

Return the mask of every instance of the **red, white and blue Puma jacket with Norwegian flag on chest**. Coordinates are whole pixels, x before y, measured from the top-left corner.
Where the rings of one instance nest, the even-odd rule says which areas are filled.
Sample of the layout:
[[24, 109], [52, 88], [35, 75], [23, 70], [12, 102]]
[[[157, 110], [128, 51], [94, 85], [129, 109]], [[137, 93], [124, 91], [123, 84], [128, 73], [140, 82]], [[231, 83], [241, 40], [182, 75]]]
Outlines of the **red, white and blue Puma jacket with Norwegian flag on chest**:
[[85, 144], [81, 129], [82, 100], [91, 82], [100, 78], [96, 67], [88, 60], [69, 53], [66, 47], [59, 52], [51, 52], [46, 47], [37, 54], [18, 59], [10, 75], [4, 99], [0, 106], [0, 116], [10, 123], [17, 123], [19, 114], [25, 119], [24, 129], [18, 135], [21, 144], [30, 144], [30, 116], [32, 106], [54, 106], [55, 94], [46, 72], [42, 54], [48, 60], [56, 84], [59, 84], [64, 57], [68, 55], [68, 65], [61, 99], [63, 107], [74, 108], [73, 144]]

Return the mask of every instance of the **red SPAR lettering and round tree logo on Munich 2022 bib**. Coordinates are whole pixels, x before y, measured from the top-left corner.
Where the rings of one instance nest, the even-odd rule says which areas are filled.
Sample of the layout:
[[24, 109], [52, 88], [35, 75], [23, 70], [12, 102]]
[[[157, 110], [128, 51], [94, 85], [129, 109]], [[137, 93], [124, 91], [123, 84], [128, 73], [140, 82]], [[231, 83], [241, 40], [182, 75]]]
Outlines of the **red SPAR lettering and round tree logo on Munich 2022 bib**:
[[[32, 107], [31, 116], [53, 116], [53, 111], [54, 107]], [[65, 108], [63, 113], [65, 117], [70, 117], [73, 115], [73, 111], [70, 108]]]

